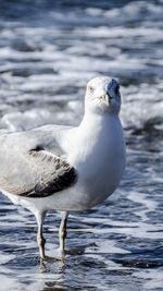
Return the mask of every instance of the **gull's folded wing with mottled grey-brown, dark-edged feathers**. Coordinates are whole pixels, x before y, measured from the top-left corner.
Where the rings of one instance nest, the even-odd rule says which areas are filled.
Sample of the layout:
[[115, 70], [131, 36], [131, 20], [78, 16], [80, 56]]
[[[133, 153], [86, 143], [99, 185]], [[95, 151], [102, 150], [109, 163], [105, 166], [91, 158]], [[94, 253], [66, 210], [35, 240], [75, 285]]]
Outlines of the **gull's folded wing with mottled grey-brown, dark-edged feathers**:
[[0, 189], [9, 193], [39, 198], [65, 190], [77, 180], [76, 170], [65, 159], [42, 149], [20, 153], [17, 159], [11, 151], [8, 159]]

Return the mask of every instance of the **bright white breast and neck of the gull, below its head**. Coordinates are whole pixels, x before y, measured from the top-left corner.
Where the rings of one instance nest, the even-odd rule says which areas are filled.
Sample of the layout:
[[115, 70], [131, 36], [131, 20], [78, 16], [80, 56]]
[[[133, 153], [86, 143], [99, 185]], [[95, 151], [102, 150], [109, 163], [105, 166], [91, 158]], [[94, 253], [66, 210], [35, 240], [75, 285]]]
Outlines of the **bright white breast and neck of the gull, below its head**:
[[68, 160], [78, 171], [75, 189], [80, 199], [85, 197], [87, 206], [95, 206], [113, 193], [125, 168], [121, 121], [117, 116], [102, 119], [89, 116], [73, 133], [70, 144]]

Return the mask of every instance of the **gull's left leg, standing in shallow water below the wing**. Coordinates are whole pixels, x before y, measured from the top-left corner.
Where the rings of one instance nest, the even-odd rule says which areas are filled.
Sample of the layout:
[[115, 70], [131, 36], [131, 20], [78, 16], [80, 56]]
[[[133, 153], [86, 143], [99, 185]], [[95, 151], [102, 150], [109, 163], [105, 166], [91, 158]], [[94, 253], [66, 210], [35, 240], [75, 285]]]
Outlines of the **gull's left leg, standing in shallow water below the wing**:
[[37, 219], [37, 223], [38, 223], [37, 243], [38, 243], [38, 247], [39, 247], [40, 258], [45, 258], [46, 240], [42, 235], [42, 225], [43, 225], [45, 217], [46, 217], [46, 213], [36, 215], [36, 219]]

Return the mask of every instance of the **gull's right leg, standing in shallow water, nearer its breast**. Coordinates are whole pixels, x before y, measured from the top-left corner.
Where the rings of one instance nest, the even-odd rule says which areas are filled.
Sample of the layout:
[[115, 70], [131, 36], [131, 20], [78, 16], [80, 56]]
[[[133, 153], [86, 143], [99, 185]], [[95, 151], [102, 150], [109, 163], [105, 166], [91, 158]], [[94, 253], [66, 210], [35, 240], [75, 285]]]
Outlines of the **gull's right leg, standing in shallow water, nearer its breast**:
[[68, 213], [63, 213], [60, 230], [59, 230], [59, 240], [60, 240], [60, 252], [64, 253], [64, 242], [66, 238], [66, 222], [67, 222]]

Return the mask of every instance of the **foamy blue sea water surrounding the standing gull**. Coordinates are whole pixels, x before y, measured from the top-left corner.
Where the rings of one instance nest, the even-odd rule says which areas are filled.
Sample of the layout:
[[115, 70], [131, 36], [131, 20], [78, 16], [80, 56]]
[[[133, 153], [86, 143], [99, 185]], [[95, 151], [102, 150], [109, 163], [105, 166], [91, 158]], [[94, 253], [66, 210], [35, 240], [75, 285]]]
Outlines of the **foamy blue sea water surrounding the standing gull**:
[[[0, 195], [0, 290], [163, 290], [163, 1], [0, 1], [0, 128], [78, 124], [87, 82], [120, 80], [127, 166], [72, 213], [64, 262], [40, 264], [34, 216]], [[60, 213], [45, 221], [59, 247]]]

